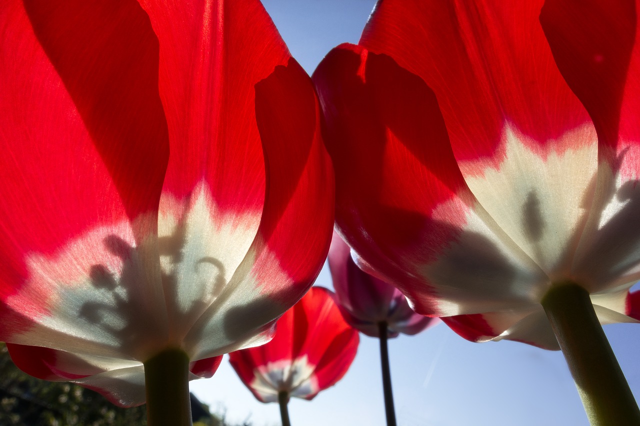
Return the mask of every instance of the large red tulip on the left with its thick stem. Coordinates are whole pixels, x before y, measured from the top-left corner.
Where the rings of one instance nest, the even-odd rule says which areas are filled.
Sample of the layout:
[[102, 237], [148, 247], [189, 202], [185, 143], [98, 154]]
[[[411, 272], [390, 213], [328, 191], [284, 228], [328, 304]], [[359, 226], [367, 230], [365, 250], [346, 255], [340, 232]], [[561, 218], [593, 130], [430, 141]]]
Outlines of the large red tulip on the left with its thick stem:
[[0, 340], [189, 423], [328, 251], [310, 79], [257, 0], [10, 0], [0, 33]]

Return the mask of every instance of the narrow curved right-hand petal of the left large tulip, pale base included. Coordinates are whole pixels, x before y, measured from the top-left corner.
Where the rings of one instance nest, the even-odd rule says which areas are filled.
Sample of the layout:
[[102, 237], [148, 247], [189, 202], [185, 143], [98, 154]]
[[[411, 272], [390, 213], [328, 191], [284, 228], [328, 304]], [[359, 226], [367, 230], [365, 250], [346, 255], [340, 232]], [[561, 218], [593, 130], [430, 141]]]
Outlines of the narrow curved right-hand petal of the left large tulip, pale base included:
[[[333, 174], [308, 75], [293, 59], [256, 85], [256, 115], [267, 164], [260, 228], [236, 273], [187, 338], [195, 356], [243, 347], [307, 291], [333, 226]], [[204, 342], [202, 335], [220, 335]], [[255, 344], [255, 343], [254, 343]]]

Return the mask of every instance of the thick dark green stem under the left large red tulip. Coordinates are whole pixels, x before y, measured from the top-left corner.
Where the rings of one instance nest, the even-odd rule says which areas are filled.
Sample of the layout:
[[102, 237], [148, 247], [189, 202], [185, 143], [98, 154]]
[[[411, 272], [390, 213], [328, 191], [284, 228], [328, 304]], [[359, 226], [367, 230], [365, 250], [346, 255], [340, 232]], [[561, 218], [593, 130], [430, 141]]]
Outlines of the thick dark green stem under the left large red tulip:
[[148, 425], [191, 426], [187, 354], [166, 349], [144, 365]]

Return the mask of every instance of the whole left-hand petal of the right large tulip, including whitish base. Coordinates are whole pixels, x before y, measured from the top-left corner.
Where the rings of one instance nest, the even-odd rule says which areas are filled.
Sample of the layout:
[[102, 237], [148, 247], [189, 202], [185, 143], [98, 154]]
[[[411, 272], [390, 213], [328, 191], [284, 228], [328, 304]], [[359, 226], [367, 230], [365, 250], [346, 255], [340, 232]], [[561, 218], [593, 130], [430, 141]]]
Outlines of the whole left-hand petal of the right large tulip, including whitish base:
[[545, 274], [469, 191], [424, 81], [350, 45], [330, 52], [313, 78], [337, 227], [358, 255], [423, 315], [536, 303]]

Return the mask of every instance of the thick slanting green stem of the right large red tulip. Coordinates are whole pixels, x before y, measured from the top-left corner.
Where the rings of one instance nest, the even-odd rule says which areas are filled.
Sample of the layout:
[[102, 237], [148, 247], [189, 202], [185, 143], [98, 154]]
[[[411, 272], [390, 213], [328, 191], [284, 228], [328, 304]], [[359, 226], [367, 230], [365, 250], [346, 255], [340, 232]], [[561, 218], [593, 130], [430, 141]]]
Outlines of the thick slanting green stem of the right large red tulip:
[[593, 426], [640, 425], [640, 411], [602, 331], [589, 293], [557, 283], [542, 299]]

